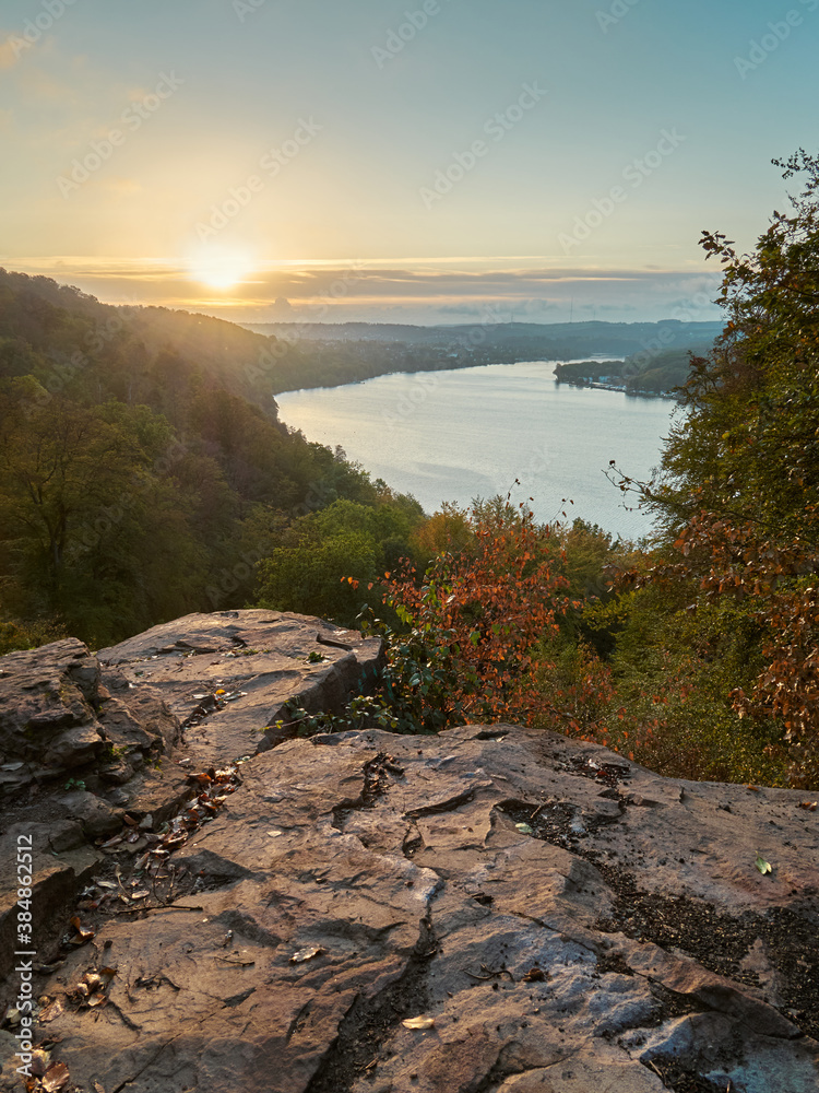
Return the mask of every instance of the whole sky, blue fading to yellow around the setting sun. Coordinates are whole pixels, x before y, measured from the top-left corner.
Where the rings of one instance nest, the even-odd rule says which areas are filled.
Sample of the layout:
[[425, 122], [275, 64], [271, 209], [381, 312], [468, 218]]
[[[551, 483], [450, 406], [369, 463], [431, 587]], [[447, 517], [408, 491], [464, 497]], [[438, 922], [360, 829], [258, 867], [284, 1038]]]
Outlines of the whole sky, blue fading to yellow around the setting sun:
[[819, 0], [3, 0], [0, 265], [236, 321], [719, 317]]

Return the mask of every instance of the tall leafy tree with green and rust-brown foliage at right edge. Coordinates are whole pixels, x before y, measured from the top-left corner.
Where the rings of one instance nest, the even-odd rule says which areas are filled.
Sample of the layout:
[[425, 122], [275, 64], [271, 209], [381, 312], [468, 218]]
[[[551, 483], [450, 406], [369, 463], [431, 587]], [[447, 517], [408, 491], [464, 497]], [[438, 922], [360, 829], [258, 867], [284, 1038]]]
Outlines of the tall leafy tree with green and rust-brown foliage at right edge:
[[804, 188], [750, 254], [703, 234], [727, 322], [692, 362], [658, 483], [638, 489], [666, 532], [648, 579], [695, 581], [697, 602], [755, 621], [764, 666], [734, 708], [781, 719], [802, 784], [819, 777], [819, 157], [778, 166]]

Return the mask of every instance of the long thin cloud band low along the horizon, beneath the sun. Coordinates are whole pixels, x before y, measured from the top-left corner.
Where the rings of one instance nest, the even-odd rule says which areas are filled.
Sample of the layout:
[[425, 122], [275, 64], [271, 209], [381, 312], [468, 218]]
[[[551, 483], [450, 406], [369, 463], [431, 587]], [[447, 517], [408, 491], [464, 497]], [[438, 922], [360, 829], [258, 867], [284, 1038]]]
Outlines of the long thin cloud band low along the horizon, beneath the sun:
[[[119, 179], [129, 192], [129, 179]], [[715, 319], [710, 301], [719, 274], [701, 270], [583, 270], [573, 268], [453, 268], [427, 261], [419, 268], [373, 262], [263, 263], [223, 292], [203, 294], [181, 263], [112, 259], [20, 260], [11, 268], [76, 284], [110, 303], [146, 304], [206, 312], [241, 322], [401, 321], [463, 322], [498, 313], [503, 321], [566, 321], [607, 318], [633, 322], [674, 317]]]

